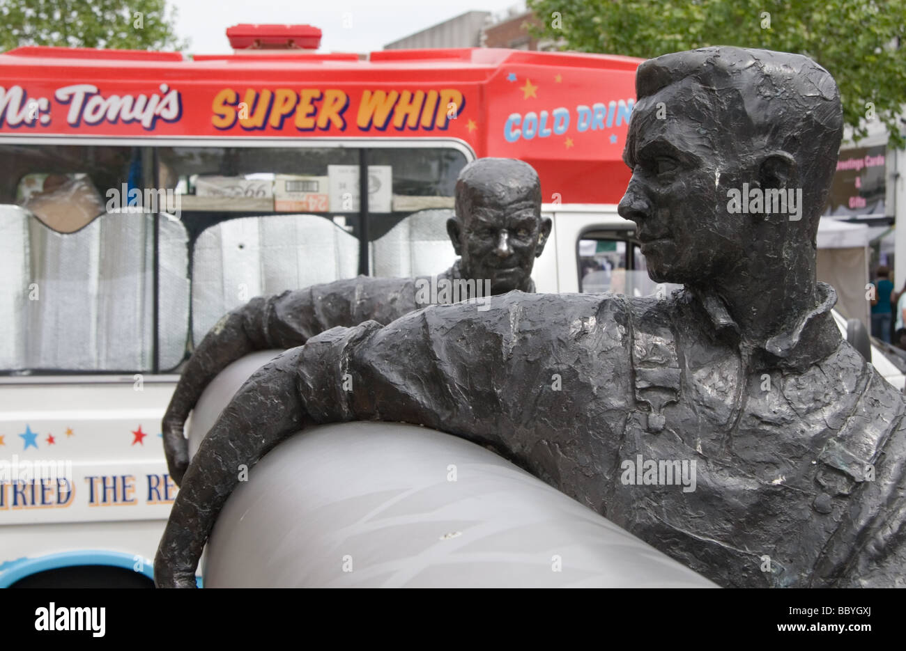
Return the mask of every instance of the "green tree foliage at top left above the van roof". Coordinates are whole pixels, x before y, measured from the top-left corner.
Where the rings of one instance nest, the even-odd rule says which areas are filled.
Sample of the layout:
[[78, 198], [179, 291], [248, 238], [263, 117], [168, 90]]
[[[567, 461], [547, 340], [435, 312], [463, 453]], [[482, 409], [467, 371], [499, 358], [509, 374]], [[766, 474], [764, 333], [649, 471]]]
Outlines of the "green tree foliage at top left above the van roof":
[[166, 0], [0, 0], [0, 49], [20, 45], [180, 50]]

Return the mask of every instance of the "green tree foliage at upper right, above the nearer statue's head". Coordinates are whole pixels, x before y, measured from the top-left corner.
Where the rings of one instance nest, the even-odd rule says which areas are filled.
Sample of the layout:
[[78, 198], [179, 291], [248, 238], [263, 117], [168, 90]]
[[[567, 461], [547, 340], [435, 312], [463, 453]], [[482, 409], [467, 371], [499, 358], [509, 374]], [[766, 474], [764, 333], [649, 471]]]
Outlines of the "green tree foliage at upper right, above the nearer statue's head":
[[866, 121], [877, 119], [891, 133], [892, 144], [904, 144], [900, 116], [906, 103], [906, 50], [901, 43], [906, 0], [528, 0], [528, 4], [545, 24], [543, 34], [576, 52], [648, 59], [708, 45], [737, 45], [805, 54], [834, 75], [843, 120], [856, 138], [866, 135]]

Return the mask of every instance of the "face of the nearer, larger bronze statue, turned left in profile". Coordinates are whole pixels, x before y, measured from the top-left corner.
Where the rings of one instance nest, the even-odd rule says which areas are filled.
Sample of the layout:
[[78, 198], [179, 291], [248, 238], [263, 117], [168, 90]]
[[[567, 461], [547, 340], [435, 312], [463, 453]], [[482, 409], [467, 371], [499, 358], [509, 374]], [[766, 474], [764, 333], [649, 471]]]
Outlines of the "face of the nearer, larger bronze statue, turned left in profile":
[[727, 188], [753, 180], [751, 157], [733, 120], [712, 114], [712, 101], [683, 81], [632, 110], [623, 152], [632, 177], [618, 210], [638, 226], [656, 282], [708, 282], [746, 255], [752, 226], [748, 215], [728, 214]]

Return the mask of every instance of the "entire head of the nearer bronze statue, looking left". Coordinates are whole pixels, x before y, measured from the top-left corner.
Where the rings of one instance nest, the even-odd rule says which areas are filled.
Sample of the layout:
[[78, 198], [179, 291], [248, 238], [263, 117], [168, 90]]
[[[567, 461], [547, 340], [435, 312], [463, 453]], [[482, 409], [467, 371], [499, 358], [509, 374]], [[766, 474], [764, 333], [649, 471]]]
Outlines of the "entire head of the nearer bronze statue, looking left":
[[814, 276], [843, 135], [831, 74], [801, 54], [708, 47], [642, 63], [636, 95], [619, 211], [651, 278], [696, 285], [765, 265]]

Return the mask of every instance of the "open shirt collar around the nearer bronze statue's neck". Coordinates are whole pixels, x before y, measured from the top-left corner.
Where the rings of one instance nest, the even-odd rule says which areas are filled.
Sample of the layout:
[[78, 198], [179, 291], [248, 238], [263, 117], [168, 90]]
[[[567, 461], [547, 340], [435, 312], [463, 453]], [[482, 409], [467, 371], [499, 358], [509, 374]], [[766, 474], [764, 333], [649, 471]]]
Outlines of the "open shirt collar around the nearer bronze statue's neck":
[[[696, 289], [691, 289], [691, 292], [708, 314], [715, 330], [730, 330], [742, 338], [739, 325], [730, 316], [727, 304], [716, 292]], [[840, 340], [839, 331], [830, 314], [837, 302], [837, 292], [826, 282], [819, 281], [815, 283], [815, 298], [818, 304], [799, 314], [791, 330], [780, 332], [764, 341], [756, 341], [755, 348], [767, 353], [769, 359], [781, 366], [807, 367], [827, 357]]]

